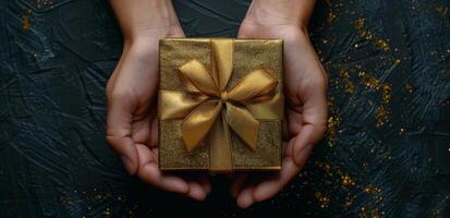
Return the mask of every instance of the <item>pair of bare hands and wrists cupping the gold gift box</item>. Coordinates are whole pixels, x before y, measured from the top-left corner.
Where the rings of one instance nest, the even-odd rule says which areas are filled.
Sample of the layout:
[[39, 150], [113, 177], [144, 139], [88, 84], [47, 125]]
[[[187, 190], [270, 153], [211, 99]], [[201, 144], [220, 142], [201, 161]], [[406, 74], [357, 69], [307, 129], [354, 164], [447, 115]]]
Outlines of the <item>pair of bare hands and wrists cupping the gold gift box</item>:
[[[124, 37], [122, 57], [106, 88], [107, 140], [130, 174], [148, 184], [194, 199], [210, 192], [206, 175], [180, 177], [158, 169], [156, 93], [158, 40], [183, 37], [171, 1], [110, 0]], [[239, 31], [240, 38], [284, 39], [289, 134], [280, 173], [233, 177], [231, 194], [246, 208], [276, 195], [305, 165], [327, 121], [327, 75], [308, 39], [307, 23], [315, 0], [254, 0]]]

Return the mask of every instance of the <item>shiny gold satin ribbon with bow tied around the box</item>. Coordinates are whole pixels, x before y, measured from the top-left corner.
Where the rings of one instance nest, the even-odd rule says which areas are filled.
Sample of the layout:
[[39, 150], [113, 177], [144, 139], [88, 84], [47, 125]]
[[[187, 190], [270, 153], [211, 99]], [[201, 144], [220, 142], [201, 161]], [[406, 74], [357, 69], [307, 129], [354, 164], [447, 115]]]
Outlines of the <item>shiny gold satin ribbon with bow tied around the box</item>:
[[[159, 118], [184, 119], [183, 141], [188, 152], [209, 133], [209, 170], [233, 169], [230, 126], [253, 150], [258, 120], [281, 120], [282, 94], [270, 95], [278, 81], [265, 69], [252, 71], [227, 90], [233, 71], [233, 39], [210, 39], [209, 71], [196, 59], [178, 69], [186, 92], [159, 92]], [[258, 120], [257, 120], [258, 119]]]

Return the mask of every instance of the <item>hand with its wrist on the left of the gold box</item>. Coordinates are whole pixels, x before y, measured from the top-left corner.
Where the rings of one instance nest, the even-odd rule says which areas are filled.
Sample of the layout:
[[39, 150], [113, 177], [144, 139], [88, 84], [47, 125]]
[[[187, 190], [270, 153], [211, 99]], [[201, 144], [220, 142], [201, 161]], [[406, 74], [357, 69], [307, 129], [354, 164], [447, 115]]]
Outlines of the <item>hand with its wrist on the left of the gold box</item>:
[[204, 199], [210, 191], [206, 177], [181, 178], [158, 168], [158, 40], [184, 36], [170, 1], [111, 0], [111, 5], [124, 47], [106, 88], [107, 140], [130, 174], [161, 190]]

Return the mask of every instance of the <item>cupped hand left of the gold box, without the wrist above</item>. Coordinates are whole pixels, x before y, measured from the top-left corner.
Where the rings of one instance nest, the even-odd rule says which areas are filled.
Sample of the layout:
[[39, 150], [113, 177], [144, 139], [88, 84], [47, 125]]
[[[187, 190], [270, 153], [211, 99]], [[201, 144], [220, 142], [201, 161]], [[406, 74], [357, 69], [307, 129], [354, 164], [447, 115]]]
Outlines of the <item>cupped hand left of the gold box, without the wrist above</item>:
[[204, 199], [210, 191], [206, 177], [182, 178], [158, 168], [158, 39], [183, 37], [181, 28], [151, 37], [125, 40], [113, 71], [108, 98], [107, 140], [126, 171], [165, 191]]

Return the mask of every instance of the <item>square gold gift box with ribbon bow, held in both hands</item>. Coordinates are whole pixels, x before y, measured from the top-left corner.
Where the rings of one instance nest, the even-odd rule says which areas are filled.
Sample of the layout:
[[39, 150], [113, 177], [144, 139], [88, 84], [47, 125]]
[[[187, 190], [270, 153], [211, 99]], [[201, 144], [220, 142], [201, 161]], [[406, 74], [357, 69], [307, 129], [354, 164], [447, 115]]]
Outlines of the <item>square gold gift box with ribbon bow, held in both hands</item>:
[[[159, 41], [158, 92], [159, 168], [163, 171], [209, 170], [215, 172], [230, 172], [232, 170], [279, 170], [281, 168], [282, 157], [282, 113], [284, 106], [282, 94], [282, 53], [283, 41], [281, 39], [161, 39]], [[195, 128], [190, 128], [191, 125], [184, 129], [181, 128], [183, 124], [186, 124], [186, 120], [188, 120], [186, 117], [190, 114], [173, 116], [173, 113], [177, 113], [179, 104], [186, 104], [188, 101], [188, 105], [191, 100], [197, 98], [198, 93], [195, 93], [195, 90], [192, 92], [192, 89], [190, 92], [190, 85], [195, 89], [195, 77], [200, 74], [200, 72], [196, 71], [205, 70], [209, 73], [214, 72], [216, 69], [221, 69], [223, 71], [223, 69], [227, 69], [227, 64], [231, 64], [231, 66], [228, 66], [230, 68], [231, 73], [228, 83], [226, 82], [227, 84], [224, 85], [223, 90], [227, 90], [228, 93], [224, 93], [229, 96], [226, 95], [226, 97], [223, 97], [223, 94], [218, 95], [215, 104], [223, 102], [223, 107], [221, 107], [218, 118], [214, 121], [212, 128], [208, 131], [208, 134], [196, 143], [195, 148], [190, 148], [190, 146], [186, 146], [186, 141], [188, 141], [191, 136], [190, 134], [195, 135], [198, 131]], [[191, 72], [191, 75], [187, 75], [187, 80], [185, 77], [186, 75], [183, 74], [184, 70], [193, 71]], [[270, 93], [259, 93], [258, 95], [260, 95], [259, 97], [262, 97], [262, 99], [256, 99], [259, 98], [256, 96], [254, 97], [256, 100], [252, 99], [253, 101], [248, 101], [251, 104], [247, 104], [247, 101], [233, 102], [233, 99], [228, 99], [233, 98], [233, 96], [230, 97], [230, 95], [233, 95], [230, 89], [233, 89], [236, 85], [239, 86], [240, 82], [245, 81], [243, 80], [244, 77], [247, 78], [244, 86], [256, 86], [255, 88], [262, 86], [259, 85], [264, 83], [260, 82], [259, 78], [262, 75], [257, 74], [262, 72], [255, 73], [255, 71], [258, 70], [264, 71], [263, 74], [269, 74], [269, 80], [271, 77], [276, 81]], [[251, 73], [255, 75], [253, 77], [247, 76]], [[190, 74], [190, 72], [187, 72], [187, 74]], [[220, 74], [220, 70], [218, 70], [216, 74]], [[188, 78], [188, 76], [192, 77]], [[185, 83], [186, 81], [187, 85]], [[217, 82], [217, 84], [220, 84], [220, 82]], [[240, 88], [246, 89], [247, 87]], [[207, 93], [207, 89], [205, 89], [205, 92]], [[199, 94], [199, 96], [202, 95], [205, 96], [205, 93]], [[263, 97], [263, 95], [265, 95], [265, 97]], [[185, 99], [180, 100], [180, 96], [183, 96]], [[275, 96], [278, 97], [276, 101], [272, 100]], [[209, 97], [209, 100], [211, 99], [214, 100], [215, 97]], [[228, 105], [229, 102], [233, 105]], [[252, 104], [259, 104], [259, 109], [253, 110]], [[267, 110], [264, 108], [266, 106], [264, 104], [267, 104]], [[264, 106], [263, 109], [260, 106]], [[195, 110], [195, 107], [198, 108], [198, 104], [188, 110], [192, 112]], [[241, 117], [235, 119], [231, 116], [232, 118], [227, 120], [227, 118], [229, 118], [227, 110], [231, 110], [232, 108], [243, 109], [246, 111], [243, 112], [245, 114], [247, 114], [248, 111], [253, 112], [253, 116], [256, 117], [255, 120], [257, 120], [258, 125], [257, 132], [254, 134], [254, 142], [256, 143], [255, 147], [252, 148], [252, 146], [248, 146], [246, 141], [244, 142], [244, 137], [241, 137], [240, 134], [236, 134], [234, 131], [240, 128], [243, 129], [244, 132], [247, 131], [246, 123], [248, 122], [245, 119], [242, 119], [241, 121]], [[270, 111], [271, 113], [277, 113], [275, 116], [276, 118], [273, 114], [266, 114], [270, 113]], [[168, 116], [167, 113], [171, 113], [171, 116]], [[265, 119], [265, 116], [268, 119]], [[202, 120], [202, 116], [199, 116], [199, 119]], [[230, 128], [232, 124], [228, 126], [227, 122], [230, 122], [232, 119], [234, 119], [234, 121], [231, 121], [233, 122], [233, 126], [238, 128]], [[190, 121], [192, 120], [193, 119]], [[222, 125], [222, 123], [224, 124]], [[241, 124], [243, 124], [243, 126], [240, 126]], [[216, 125], [220, 126], [215, 129], [217, 128]], [[196, 126], [196, 124], [193, 126]], [[219, 134], [219, 140], [217, 140], [217, 134]], [[215, 137], [214, 142], [218, 143], [212, 143], [212, 141], [210, 141], [212, 137]], [[228, 137], [231, 141], [231, 145], [228, 145], [228, 148], [223, 145], [227, 143], [222, 143], [223, 137]], [[226, 155], [226, 157], [219, 157], [222, 156], [222, 154], [227, 154], [227, 149], [229, 149], [228, 152], [230, 154], [228, 156]], [[230, 166], [221, 167], [221, 165], [226, 164], [221, 164], [222, 160], [216, 160], [215, 158], [223, 159], [224, 161], [230, 159], [232, 168], [230, 169]]]

